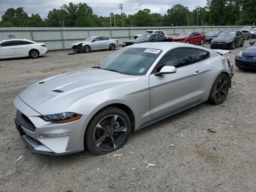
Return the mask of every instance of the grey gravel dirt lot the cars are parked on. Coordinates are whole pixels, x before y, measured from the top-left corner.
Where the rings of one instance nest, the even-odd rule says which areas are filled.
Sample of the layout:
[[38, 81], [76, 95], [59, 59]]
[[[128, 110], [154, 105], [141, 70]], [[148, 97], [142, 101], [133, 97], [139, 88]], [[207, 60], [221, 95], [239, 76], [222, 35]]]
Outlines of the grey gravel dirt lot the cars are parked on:
[[[233, 63], [244, 48], [231, 51]], [[200, 104], [132, 132], [126, 146], [109, 156], [87, 151], [57, 157], [32, 154], [15, 128], [14, 97], [34, 82], [96, 66], [113, 53], [70, 52], [0, 60], [0, 191], [256, 191], [256, 72], [235, 66], [232, 88], [222, 105]], [[146, 168], [149, 163], [155, 166]]]

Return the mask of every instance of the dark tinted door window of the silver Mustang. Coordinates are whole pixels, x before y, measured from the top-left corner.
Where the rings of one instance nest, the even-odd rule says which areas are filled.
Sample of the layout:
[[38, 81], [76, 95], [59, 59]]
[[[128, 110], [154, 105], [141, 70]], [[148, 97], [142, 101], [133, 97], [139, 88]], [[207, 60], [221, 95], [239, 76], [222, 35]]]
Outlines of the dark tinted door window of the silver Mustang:
[[193, 48], [178, 48], [166, 53], [158, 62], [153, 73], [160, 72], [163, 66], [183, 67], [196, 62], [196, 53]]

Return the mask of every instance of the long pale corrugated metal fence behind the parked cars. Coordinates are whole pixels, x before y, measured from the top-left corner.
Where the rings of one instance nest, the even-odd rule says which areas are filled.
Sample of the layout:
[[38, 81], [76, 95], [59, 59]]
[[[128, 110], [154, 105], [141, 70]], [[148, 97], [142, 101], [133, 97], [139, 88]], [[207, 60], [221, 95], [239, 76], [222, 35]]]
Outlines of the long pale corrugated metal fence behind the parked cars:
[[8, 33], [14, 33], [16, 38], [29, 39], [46, 44], [49, 50], [58, 50], [64, 48], [71, 48], [71, 44], [77, 41], [84, 40], [89, 36], [109, 36], [118, 39], [121, 45], [124, 41], [133, 39], [135, 35], [142, 34], [145, 30], [164, 30], [166, 34], [180, 34], [182, 32], [210, 32], [218, 30], [238, 30], [243, 26], [172, 26], [172, 27], [106, 27], [106, 28], [92, 28], [92, 27], [9, 27], [0, 28], [0, 40], [7, 39]]

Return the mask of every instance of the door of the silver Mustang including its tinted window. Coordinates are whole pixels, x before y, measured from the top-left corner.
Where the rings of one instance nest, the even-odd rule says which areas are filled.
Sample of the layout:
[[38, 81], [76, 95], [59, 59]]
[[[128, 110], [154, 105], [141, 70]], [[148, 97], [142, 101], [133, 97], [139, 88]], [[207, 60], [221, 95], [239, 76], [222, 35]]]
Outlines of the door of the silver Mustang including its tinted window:
[[[155, 76], [165, 65], [175, 66], [176, 73]], [[193, 48], [177, 48], [165, 54], [149, 78], [151, 118], [193, 103], [202, 84], [201, 71]]]

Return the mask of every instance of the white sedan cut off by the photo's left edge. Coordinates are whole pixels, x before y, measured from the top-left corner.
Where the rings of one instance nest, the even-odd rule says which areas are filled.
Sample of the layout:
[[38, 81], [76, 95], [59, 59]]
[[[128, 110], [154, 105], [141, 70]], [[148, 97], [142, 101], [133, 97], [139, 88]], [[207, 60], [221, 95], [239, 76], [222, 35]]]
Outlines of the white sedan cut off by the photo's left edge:
[[27, 39], [0, 40], [0, 59], [28, 57], [38, 58], [46, 54], [48, 49], [44, 43], [37, 43]]

